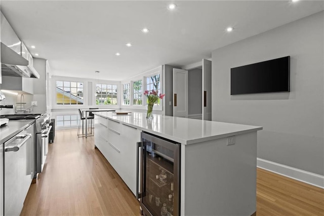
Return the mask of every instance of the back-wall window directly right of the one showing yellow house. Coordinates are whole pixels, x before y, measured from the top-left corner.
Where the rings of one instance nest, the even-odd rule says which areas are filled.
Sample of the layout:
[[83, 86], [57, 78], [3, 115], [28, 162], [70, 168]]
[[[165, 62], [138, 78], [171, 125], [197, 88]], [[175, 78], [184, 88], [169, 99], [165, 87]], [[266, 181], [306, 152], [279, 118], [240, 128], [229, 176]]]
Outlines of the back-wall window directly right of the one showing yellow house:
[[117, 85], [97, 84], [96, 104], [97, 105], [117, 104]]

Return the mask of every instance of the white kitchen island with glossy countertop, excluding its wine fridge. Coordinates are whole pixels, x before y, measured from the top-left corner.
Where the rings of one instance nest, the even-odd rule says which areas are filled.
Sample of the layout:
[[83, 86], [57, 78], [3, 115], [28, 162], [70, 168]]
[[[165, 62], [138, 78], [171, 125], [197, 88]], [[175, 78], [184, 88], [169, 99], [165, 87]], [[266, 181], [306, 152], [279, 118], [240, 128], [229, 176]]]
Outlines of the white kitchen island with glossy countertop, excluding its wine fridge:
[[[95, 146], [136, 194], [140, 132], [181, 143], [181, 215], [256, 211], [257, 131], [262, 127], [144, 113], [95, 113]], [[227, 145], [233, 141], [234, 145]]]

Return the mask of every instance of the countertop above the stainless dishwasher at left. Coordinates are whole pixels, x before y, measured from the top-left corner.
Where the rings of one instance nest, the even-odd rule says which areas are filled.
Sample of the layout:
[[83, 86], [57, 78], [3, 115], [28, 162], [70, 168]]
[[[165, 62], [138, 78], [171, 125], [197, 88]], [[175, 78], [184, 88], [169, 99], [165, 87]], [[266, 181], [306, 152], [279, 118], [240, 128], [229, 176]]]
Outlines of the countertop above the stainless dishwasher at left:
[[34, 122], [35, 120], [16, 120], [9, 121], [7, 124], [2, 125], [0, 127], [0, 143], [4, 143]]

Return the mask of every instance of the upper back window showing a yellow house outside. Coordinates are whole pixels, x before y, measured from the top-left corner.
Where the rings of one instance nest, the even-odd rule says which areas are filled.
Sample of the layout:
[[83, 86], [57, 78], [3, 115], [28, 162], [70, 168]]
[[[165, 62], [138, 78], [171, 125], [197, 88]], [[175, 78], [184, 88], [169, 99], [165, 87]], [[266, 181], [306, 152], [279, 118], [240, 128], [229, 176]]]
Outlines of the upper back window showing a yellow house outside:
[[56, 81], [56, 104], [83, 104], [83, 83]]

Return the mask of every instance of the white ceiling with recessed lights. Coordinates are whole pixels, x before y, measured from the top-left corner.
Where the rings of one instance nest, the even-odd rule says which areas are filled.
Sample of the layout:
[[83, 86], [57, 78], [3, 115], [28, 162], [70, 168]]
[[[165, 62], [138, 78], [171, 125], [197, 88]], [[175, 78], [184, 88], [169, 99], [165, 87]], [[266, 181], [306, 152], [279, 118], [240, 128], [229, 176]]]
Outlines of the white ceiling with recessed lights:
[[[210, 58], [217, 48], [322, 11], [323, 1], [2, 0], [1, 10], [53, 75], [93, 78], [99, 70], [97, 79], [119, 81]], [[228, 26], [235, 29], [226, 32]]]

